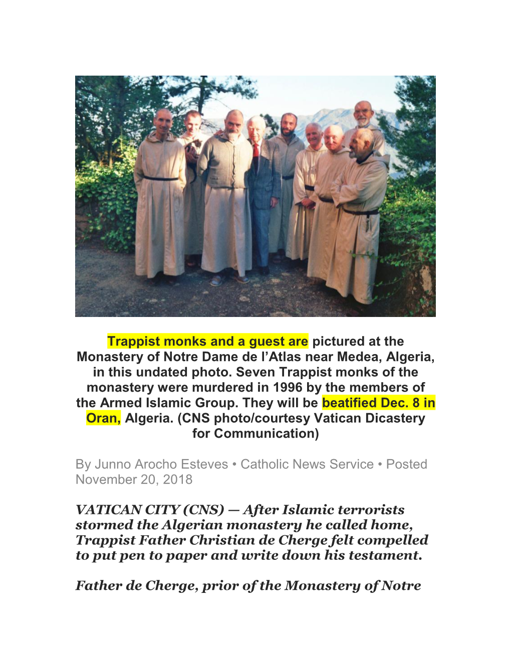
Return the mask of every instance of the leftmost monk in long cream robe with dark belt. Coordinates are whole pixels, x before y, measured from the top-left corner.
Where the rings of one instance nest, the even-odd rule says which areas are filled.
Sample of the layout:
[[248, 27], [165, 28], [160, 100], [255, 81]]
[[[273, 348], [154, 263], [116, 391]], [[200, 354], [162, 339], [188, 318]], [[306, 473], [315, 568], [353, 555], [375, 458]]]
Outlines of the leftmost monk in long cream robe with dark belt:
[[171, 134], [172, 114], [158, 110], [156, 130], [138, 149], [135, 184], [138, 192], [135, 272], [151, 284], [163, 272], [184, 272], [182, 190], [186, 185], [184, 147]]

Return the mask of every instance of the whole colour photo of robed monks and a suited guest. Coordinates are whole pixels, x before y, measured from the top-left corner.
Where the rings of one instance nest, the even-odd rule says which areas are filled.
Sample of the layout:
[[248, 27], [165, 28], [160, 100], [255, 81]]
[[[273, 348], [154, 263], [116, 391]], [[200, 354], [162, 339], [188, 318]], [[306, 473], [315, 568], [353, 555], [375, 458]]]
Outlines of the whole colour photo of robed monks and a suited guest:
[[435, 77], [283, 78], [76, 77], [77, 316], [434, 315]]

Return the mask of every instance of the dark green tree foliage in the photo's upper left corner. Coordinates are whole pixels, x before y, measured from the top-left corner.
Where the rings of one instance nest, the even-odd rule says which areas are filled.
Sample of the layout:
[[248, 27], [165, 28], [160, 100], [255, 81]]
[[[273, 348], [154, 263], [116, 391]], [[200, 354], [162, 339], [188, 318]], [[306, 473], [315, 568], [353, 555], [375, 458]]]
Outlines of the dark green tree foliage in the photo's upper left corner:
[[[159, 108], [171, 106], [168, 76], [76, 76], [75, 165], [93, 159], [110, 167], [124, 145], [140, 143], [153, 130]], [[177, 122], [175, 133], [182, 129]]]

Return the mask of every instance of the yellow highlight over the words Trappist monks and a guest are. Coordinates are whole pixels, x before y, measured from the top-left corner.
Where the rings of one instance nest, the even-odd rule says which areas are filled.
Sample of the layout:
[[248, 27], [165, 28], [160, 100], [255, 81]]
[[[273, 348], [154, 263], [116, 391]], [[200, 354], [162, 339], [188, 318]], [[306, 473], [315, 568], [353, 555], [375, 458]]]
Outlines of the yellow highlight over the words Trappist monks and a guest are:
[[307, 349], [309, 333], [108, 333], [108, 349]]

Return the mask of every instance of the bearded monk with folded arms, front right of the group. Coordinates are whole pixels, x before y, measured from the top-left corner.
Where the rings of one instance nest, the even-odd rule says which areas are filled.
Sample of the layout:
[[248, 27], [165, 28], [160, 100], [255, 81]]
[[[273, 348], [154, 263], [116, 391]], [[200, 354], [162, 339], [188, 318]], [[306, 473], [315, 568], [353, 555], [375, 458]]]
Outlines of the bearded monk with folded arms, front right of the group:
[[374, 151], [370, 130], [350, 142], [350, 163], [336, 178], [332, 197], [341, 208], [327, 286], [372, 303], [379, 243], [379, 206], [385, 198], [389, 156]]

